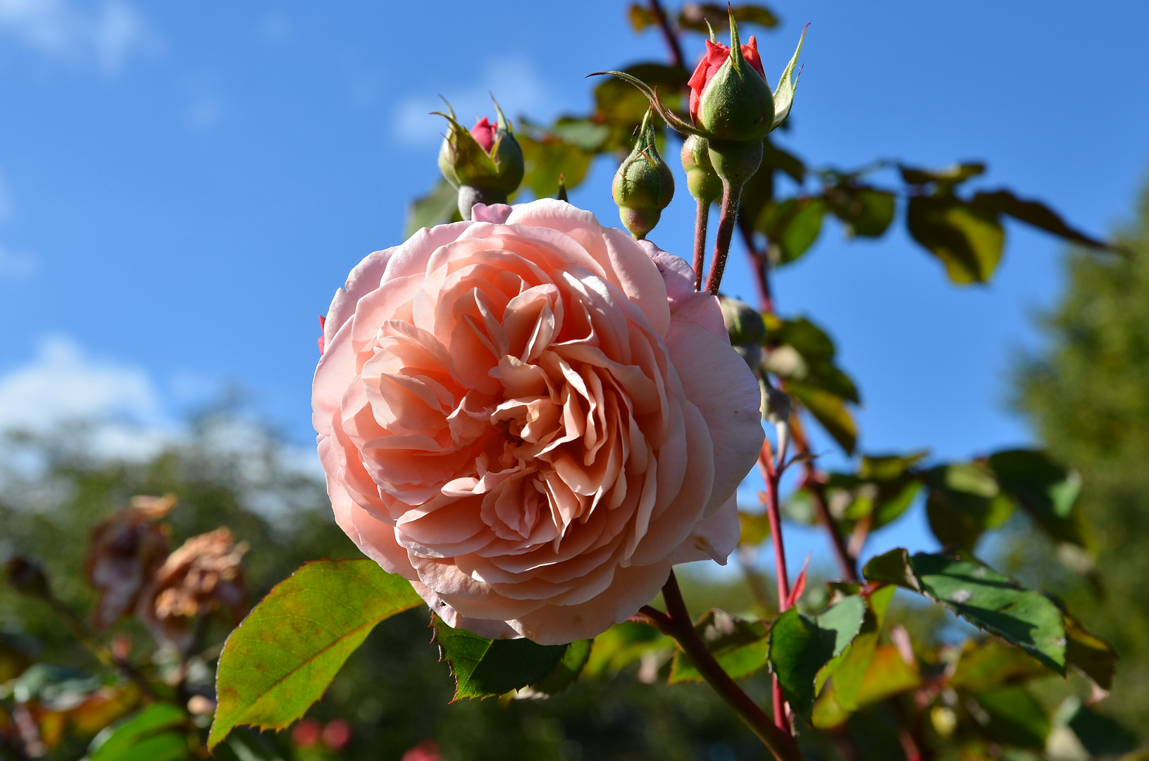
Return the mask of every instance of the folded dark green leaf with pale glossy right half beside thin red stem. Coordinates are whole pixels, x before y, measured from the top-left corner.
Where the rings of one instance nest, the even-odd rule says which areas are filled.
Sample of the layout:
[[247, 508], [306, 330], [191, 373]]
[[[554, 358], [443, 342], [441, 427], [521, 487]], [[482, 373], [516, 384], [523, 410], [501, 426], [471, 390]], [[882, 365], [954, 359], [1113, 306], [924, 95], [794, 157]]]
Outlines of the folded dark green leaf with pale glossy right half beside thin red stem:
[[862, 628], [865, 601], [851, 595], [817, 617], [791, 608], [770, 628], [770, 666], [791, 707], [810, 720], [818, 671], [840, 655]]

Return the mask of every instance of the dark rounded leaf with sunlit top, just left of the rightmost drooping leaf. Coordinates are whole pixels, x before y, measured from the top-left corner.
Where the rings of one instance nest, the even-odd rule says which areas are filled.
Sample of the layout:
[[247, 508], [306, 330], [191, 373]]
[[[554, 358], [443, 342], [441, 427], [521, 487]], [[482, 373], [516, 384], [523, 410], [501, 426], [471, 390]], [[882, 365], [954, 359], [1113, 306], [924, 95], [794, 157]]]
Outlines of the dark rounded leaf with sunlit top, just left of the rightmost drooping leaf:
[[925, 478], [930, 529], [943, 545], [972, 552], [985, 531], [1013, 512], [1012, 501], [1000, 493], [993, 471], [982, 463], [938, 466]]

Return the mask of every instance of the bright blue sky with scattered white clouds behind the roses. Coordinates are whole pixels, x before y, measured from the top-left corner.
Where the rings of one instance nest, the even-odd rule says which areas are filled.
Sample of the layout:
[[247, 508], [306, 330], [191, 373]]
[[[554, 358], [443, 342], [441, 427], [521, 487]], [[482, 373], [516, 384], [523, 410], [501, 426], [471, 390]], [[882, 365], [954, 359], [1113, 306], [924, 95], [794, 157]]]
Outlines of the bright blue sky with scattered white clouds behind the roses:
[[[772, 7], [771, 79], [811, 23], [779, 141], [812, 164], [985, 159], [984, 186], [1086, 230], [1125, 218], [1149, 168], [1149, 6]], [[664, 56], [619, 2], [0, 0], [0, 424], [171, 424], [234, 383], [307, 445], [316, 315], [434, 182], [437, 93], [464, 117], [492, 90], [546, 118], [587, 109], [586, 72]], [[612, 169], [571, 200], [617, 224]], [[692, 220], [680, 193], [651, 237], [685, 254]], [[866, 451], [969, 456], [1030, 438], [1008, 370], [1059, 252], [1011, 226], [997, 279], [956, 289], [901, 231], [828, 225], [779, 305], [838, 340]], [[728, 289], [753, 295], [747, 277], [739, 260]], [[920, 521], [904, 532], [925, 541]]]

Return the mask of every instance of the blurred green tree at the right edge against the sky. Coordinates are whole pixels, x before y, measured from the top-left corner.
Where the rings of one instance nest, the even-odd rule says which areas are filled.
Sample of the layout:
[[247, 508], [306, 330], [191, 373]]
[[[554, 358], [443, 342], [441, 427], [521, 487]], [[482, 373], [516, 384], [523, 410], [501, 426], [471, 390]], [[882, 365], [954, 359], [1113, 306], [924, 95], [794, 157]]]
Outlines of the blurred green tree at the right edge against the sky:
[[[1149, 738], [1149, 186], [1118, 254], [1072, 249], [1066, 290], [1044, 316], [1047, 347], [1017, 379], [1017, 405], [1049, 449], [1081, 474], [1096, 541], [1088, 577], [1016, 545], [1020, 572], [1046, 575], [1109, 639], [1118, 663], [1110, 710]], [[1030, 535], [1032, 536], [1032, 535]]]

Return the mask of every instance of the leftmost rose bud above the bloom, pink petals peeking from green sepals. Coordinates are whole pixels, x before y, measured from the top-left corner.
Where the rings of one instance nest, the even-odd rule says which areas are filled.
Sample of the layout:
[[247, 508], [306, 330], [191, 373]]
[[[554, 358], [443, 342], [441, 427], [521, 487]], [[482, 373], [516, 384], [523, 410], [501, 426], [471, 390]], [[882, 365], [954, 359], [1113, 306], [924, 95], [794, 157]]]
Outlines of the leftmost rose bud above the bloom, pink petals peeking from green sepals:
[[470, 130], [455, 120], [450, 103], [446, 114], [435, 113], [448, 122], [439, 170], [458, 190], [458, 213], [470, 220], [476, 203], [506, 203], [523, 182], [523, 148], [499, 103], [494, 124], [484, 116]]

